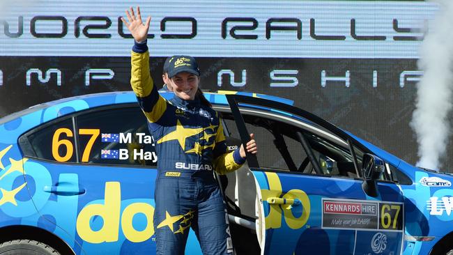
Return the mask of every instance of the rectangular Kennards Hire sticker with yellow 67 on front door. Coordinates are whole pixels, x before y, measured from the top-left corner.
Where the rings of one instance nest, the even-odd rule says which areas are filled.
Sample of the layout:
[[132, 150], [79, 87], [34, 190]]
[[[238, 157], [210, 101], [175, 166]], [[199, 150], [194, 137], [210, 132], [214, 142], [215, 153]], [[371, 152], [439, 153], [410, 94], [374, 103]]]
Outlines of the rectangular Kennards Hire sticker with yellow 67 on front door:
[[323, 229], [403, 230], [403, 203], [323, 199]]

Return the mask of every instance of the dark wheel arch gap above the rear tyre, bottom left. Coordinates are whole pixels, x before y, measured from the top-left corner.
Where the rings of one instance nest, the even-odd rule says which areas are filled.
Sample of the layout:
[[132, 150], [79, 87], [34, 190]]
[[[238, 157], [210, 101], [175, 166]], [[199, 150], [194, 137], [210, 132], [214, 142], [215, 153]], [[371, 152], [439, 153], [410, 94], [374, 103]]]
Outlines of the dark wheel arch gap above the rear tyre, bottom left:
[[36, 240], [52, 246], [59, 251], [60, 254], [75, 255], [75, 252], [72, 251], [71, 247], [65, 241], [54, 233], [50, 233], [44, 229], [21, 225], [5, 226], [0, 229], [0, 243], [17, 239]]

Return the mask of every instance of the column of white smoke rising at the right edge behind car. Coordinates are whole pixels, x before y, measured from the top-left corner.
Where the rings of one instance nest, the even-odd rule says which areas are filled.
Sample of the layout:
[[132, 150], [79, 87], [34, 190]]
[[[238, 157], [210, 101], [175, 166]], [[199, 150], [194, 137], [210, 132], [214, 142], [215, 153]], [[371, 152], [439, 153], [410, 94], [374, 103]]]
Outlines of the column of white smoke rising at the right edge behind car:
[[453, 118], [453, 1], [436, 0], [440, 9], [420, 48], [416, 109], [410, 126], [417, 134], [417, 166], [439, 169]]

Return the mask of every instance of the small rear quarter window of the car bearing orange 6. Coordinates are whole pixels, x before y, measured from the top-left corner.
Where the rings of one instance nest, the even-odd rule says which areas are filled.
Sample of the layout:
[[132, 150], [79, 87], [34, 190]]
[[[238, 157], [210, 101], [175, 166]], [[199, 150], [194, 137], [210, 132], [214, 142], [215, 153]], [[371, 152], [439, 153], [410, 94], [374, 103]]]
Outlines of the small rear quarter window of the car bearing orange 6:
[[26, 138], [29, 146], [21, 146], [25, 156], [58, 162], [76, 162], [72, 118], [38, 127]]

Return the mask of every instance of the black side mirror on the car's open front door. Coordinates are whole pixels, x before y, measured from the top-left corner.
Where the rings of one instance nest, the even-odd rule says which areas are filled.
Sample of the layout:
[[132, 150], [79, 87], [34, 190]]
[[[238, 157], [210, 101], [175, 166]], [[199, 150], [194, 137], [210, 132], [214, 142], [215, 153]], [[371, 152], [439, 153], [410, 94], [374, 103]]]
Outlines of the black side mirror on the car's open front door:
[[362, 175], [364, 181], [362, 188], [368, 196], [378, 196], [376, 180], [381, 178], [385, 171], [385, 162], [381, 158], [371, 154], [364, 154], [362, 158]]

